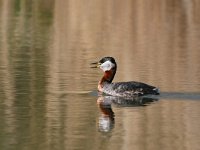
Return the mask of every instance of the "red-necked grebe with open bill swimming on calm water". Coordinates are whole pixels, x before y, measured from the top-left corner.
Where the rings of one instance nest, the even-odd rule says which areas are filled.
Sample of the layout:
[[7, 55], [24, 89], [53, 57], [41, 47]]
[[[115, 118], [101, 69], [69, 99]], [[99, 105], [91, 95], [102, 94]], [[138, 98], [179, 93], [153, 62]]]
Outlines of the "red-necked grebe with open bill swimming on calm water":
[[98, 83], [98, 91], [112, 96], [134, 97], [147, 94], [158, 95], [158, 88], [142, 82], [115, 82], [112, 80], [117, 71], [117, 63], [113, 57], [104, 57], [99, 62], [92, 63], [92, 68], [100, 68], [104, 75]]

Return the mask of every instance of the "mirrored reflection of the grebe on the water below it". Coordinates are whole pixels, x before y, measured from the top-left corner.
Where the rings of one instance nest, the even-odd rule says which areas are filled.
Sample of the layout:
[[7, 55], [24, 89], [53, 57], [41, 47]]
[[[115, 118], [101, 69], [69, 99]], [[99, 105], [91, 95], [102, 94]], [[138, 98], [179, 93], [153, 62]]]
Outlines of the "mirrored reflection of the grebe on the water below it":
[[134, 98], [122, 98], [115, 96], [99, 96], [97, 104], [101, 110], [99, 116], [98, 128], [100, 132], [109, 132], [115, 125], [115, 114], [112, 110], [112, 105], [118, 107], [139, 107], [147, 106], [148, 104], [157, 101], [157, 98], [149, 97], [134, 97]]

